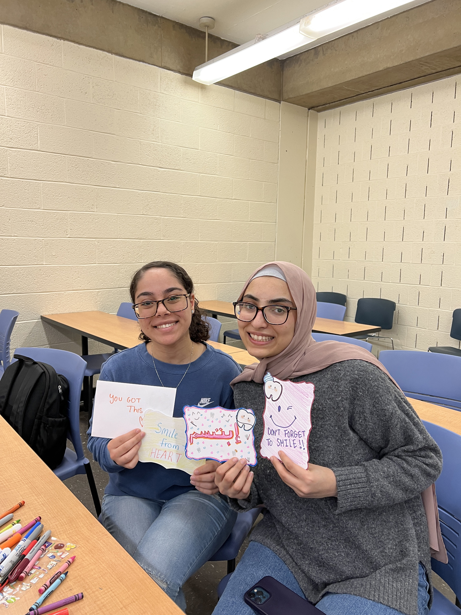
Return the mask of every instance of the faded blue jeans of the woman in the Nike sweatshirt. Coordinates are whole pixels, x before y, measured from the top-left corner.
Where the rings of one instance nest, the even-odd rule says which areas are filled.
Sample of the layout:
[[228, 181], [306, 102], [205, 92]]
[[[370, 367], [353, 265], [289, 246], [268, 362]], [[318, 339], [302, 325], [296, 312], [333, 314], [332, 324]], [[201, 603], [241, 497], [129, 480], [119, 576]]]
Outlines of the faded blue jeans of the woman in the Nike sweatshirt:
[[168, 501], [104, 495], [102, 523], [157, 585], [186, 610], [181, 585], [221, 547], [237, 513], [192, 490]]

